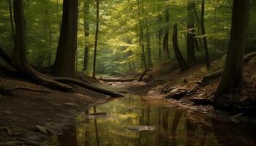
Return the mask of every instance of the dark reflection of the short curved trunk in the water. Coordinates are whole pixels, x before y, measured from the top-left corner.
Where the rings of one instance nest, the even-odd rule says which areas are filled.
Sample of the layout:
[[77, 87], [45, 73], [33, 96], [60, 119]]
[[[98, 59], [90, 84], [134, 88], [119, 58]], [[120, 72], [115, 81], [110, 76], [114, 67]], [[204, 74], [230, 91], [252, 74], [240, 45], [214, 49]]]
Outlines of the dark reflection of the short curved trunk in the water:
[[171, 134], [172, 134], [172, 145], [176, 145], [176, 135], [177, 135], [177, 128], [178, 128], [178, 123], [181, 120], [182, 112], [179, 110], [176, 110], [174, 118], [173, 118], [173, 126], [171, 128]]

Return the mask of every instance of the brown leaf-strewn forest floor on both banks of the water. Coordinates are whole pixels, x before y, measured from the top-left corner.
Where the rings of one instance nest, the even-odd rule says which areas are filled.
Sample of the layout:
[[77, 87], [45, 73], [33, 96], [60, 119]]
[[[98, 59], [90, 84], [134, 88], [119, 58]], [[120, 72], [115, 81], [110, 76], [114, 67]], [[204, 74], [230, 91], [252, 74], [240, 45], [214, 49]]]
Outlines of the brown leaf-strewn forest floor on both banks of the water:
[[[143, 77], [142, 82], [105, 83], [118, 91], [126, 90], [138, 95], [163, 97], [170, 104], [176, 104], [187, 110], [216, 114], [211, 101], [220, 78], [204, 84], [198, 83], [206, 74], [222, 69], [224, 60], [212, 62], [214, 68], [211, 71], [207, 71], [204, 64], [191, 66], [185, 72], [180, 72], [177, 64], [162, 64], [152, 68]], [[238, 97], [236, 100], [239, 101], [239, 106], [246, 107], [249, 103], [255, 105], [255, 72], [256, 58], [252, 58], [244, 67], [244, 85], [230, 93]], [[99, 83], [97, 85], [107, 87]], [[0, 93], [0, 145], [44, 145], [43, 142], [47, 142], [53, 133], [59, 135], [67, 132], [65, 129], [75, 123], [75, 115], [79, 112], [110, 99], [109, 96], [75, 85], [73, 85], [75, 93], [52, 90], [31, 83], [20, 77], [20, 74], [8, 71], [0, 72], [0, 87], [5, 89], [27, 87], [49, 92], [20, 90], [8, 95]], [[202, 102], [195, 104], [193, 99], [200, 99], [199, 101]], [[236, 114], [231, 115], [233, 117]]]

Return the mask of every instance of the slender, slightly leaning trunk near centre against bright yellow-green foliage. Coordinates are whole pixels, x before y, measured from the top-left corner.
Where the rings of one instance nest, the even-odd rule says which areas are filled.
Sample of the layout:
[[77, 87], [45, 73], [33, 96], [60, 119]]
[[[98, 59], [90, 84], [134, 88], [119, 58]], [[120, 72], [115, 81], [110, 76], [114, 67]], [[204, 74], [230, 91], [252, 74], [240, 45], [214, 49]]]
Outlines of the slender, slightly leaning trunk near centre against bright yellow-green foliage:
[[145, 45], [144, 45], [144, 33], [143, 33], [143, 26], [140, 18], [140, 0], [137, 0], [138, 2], [138, 18], [139, 18], [139, 26], [140, 26], [140, 46], [142, 49], [142, 55], [141, 55], [141, 61], [143, 61], [143, 67], [144, 69], [147, 69], [148, 66], [146, 64], [146, 53], [145, 53]]

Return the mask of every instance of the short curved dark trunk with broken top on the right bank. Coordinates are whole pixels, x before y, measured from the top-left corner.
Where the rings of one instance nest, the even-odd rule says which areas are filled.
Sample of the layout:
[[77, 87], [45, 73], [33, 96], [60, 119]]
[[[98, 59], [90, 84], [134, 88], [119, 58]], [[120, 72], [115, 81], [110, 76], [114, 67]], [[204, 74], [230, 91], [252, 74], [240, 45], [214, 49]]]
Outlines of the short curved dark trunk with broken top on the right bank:
[[181, 68], [181, 72], [183, 72], [184, 70], [187, 69], [187, 63], [184, 60], [184, 58], [181, 54], [181, 50], [179, 50], [179, 47], [178, 47], [178, 28], [177, 28], [177, 24], [175, 24], [174, 27], [173, 27], [173, 50], [174, 50], [176, 59], [178, 61], [178, 64]]

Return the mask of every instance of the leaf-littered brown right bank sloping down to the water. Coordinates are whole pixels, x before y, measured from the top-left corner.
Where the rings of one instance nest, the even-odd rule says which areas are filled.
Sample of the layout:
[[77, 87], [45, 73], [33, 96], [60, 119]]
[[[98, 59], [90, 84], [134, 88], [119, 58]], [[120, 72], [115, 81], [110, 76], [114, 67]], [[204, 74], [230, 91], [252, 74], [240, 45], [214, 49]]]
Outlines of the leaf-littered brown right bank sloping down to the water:
[[[214, 110], [213, 98], [217, 91], [221, 77], [201, 82], [204, 76], [223, 69], [225, 58], [211, 63], [208, 71], [205, 64], [191, 66], [187, 71], [180, 72], [177, 64], [162, 64], [155, 66], [143, 77], [143, 82], [116, 83], [128, 92], [147, 96], [162, 96], [170, 104], [176, 104], [187, 110], [219, 115], [226, 120], [248, 121], [244, 118], [252, 116], [256, 107], [256, 58], [246, 62], [244, 66], [244, 82], [241, 88], [230, 90], [223, 98], [227, 101], [228, 111]], [[253, 115], [255, 117], [255, 114]], [[255, 119], [249, 118], [250, 121]]]

